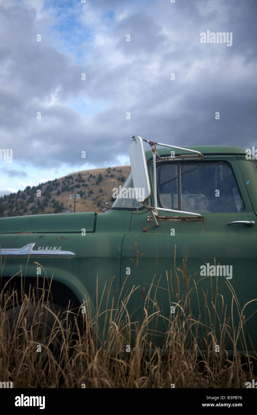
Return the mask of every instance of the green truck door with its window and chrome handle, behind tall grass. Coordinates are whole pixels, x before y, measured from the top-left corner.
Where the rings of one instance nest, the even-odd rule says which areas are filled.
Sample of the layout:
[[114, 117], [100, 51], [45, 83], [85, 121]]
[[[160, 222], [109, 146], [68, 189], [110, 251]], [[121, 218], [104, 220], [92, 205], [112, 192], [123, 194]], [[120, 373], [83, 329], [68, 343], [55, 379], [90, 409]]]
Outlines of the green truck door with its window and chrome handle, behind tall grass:
[[[253, 330], [257, 322], [256, 302], [247, 305], [242, 317], [239, 317], [240, 311], [238, 313], [236, 306], [238, 302], [239, 310], [242, 310], [249, 300], [257, 297], [257, 224], [253, 224], [256, 215], [236, 156], [219, 154], [205, 156], [204, 160], [198, 161], [158, 162], [157, 200], [159, 207], [198, 212], [204, 220], [159, 211], [159, 227], [156, 227], [149, 211], [133, 212], [130, 232], [124, 237], [121, 248], [121, 286], [126, 277], [126, 289], [140, 286], [128, 305], [133, 321], [142, 321], [145, 298], [154, 278], [151, 288], [153, 301], [147, 300], [146, 304], [150, 304], [154, 312], [159, 308], [164, 319], [159, 318], [157, 325], [148, 329], [153, 330], [152, 333], [157, 330], [152, 341], [162, 345], [163, 333], [167, 332], [171, 315], [171, 302], [185, 304], [188, 284], [189, 289], [193, 288], [192, 314], [196, 319], [200, 314], [205, 319], [207, 295], [210, 319], [216, 325], [217, 314], [221, 323], [224, 322], [222, 295], [227, 304], [226, 319], [229, 318], [229, 321], [226, 320], [226, 323], [231, 326], [234, 296], [233, 324], [238, 327], [241, 318], [256, 347], [257, 333]], [[127, 267], [130, 269], [129, 276], [126, 275]], [[178, 271], [178, 267], [182, 272]], [[185, 281], [183, 270], [190, 278], [189, 283]], [[175, 308], [175, 312], [178, 309]], [[219, 313], [215, 311], [218, 309]], [[206, 318], [205, 323], [209, 325], [208, 312]], [[227, 337], [223, 346], [232, 349], [232, 342]], [[238, 349], [244, 347], [245, 344], [238, 342]], [[247, 342], [247, 347], [252, 349], [251, 342]], [[204, 345], [202, 348], [205, 348]]]

